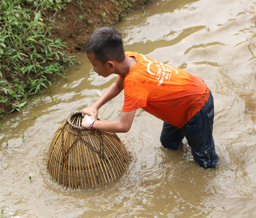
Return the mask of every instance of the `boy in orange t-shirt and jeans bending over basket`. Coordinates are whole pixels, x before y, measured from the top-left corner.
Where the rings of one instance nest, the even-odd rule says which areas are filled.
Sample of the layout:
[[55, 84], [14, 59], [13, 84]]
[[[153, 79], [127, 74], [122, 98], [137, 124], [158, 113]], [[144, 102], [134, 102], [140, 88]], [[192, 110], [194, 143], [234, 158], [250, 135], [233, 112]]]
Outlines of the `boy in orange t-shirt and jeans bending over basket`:
[[[83, 52], [100, 76], [118, 74], [116, 81], [89, 108], [83, 109], [82, 126], [108, 132], [128, 132], [136, 109], [164, 121], [160, 141], [165, 148], [178, 149], [187, 138], [194, 160], [211, 168], [219, 160], [212, 137], [213, 97], [204, 81], [176, 67], [157, 62], [145, 55], [124, 52], [122, 35], [112, 27], [92, 33]], [[124, 89], [120, 120], [97, 120], [98, 110]]]

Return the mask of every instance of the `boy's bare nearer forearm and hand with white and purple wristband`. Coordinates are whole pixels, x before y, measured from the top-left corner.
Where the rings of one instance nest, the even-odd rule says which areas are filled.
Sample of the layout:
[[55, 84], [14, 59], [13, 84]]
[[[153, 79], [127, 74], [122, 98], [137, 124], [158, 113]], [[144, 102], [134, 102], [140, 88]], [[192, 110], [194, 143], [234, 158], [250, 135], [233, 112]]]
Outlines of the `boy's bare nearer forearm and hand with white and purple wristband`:
[[[117, 121], [100, 121], [97, 120], [97, 116], [94, 113], [88, 114], [93, 122], [94, 129], [100, 129], [108, 132], [128, 132], [132, 126], [132, 121], [135, 116], [136, 110], [130, 112], [122, 112], [120, 120]], [[87, 122], [86, 118], [83, 118], [81, 123], [82, 127], [91, 129], [90, 123]]]

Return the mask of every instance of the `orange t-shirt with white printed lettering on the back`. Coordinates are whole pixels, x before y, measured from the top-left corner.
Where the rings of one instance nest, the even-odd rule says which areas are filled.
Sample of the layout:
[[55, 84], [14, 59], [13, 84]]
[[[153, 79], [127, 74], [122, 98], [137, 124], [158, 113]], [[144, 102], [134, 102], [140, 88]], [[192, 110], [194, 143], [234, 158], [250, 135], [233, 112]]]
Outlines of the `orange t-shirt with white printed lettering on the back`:
[[123, 112], [142, 108], [170, 125], [182, 128], [204, 106], [210, 90], [188, 72], [127, 51], [137, 63], [124, 79]]

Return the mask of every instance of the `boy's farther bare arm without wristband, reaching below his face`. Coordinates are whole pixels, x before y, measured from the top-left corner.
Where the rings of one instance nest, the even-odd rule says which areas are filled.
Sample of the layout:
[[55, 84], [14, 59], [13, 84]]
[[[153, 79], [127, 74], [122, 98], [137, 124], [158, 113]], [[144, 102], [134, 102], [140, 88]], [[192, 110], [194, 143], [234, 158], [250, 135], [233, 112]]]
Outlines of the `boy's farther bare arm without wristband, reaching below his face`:
[[84, 108], [82, 111], [82, 117], [84, 117], [85, 114], [90, 114], [90, 112], [93, 112], [98, 116], [98, 110], [102, 105], [107, 103], [112, 98], [116, 97], [122, 90], [124, 89], [124, 78], [121, 78], [120, 76], [117, 76], [116, 81], [110, 85], [107, 91], [104, 92], [104, 94], [95, 102], [91, 107]]

